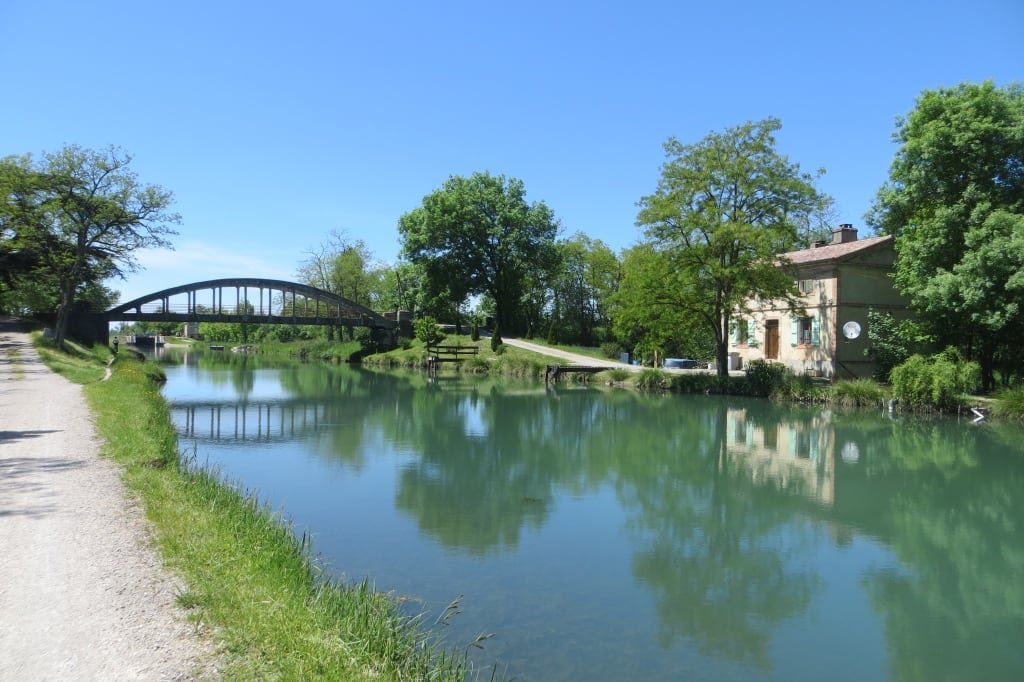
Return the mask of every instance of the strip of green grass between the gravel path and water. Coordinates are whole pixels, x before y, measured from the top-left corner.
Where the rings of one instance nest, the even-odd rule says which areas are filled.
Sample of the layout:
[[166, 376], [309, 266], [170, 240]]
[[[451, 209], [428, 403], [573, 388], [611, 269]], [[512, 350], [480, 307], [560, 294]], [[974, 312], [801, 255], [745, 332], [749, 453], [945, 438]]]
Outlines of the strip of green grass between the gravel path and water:
[[[43, 352], [57, 366], [86, 361]], [[225, 679], [467, 677], [465, 657], [440, 648], [391, 598], [327, 580], [304, 538], [180, 456], [157, 366], [122, 357], [102, 382], [94, 381], [102, 366], [92, 369], [78, 376], [93, 381], [85, 393], [103, 455], [124, 468], [165, 560], [184, 579], [179, 603], [215, 633]]]

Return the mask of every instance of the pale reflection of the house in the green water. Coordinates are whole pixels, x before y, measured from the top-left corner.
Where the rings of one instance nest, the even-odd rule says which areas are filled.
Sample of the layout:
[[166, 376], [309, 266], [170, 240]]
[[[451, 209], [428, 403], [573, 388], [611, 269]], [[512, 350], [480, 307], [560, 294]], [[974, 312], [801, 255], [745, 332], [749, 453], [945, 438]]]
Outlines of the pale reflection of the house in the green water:
[[831, 505], [836, 498], [836, 429], [822, 411], [800, 421], [757, 419], [745, 409], [726, 416], [726, 466], [755, 483]]

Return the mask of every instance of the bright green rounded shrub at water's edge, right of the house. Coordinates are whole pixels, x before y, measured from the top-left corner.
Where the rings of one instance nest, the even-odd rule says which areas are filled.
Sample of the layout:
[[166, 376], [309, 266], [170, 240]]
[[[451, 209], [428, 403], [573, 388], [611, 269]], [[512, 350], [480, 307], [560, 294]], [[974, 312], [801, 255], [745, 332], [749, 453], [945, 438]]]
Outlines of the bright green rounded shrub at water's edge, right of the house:
[[942, 411], [956, 407], [965, 393], [978, 387], [981, 368], [950, 348], [931, 358], [911, 355], [893, 368], [890, 376], [901, 402]]

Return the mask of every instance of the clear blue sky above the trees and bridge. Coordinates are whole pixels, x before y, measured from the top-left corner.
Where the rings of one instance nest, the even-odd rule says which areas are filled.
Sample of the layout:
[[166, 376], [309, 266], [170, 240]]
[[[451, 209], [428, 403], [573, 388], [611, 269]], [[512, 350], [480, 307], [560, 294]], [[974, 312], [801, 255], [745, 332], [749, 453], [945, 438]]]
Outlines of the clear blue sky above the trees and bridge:
[[113, 143], [175, 195], [176, 250], [122, 300], [292, 279], [332, 229], [392, 262], [398, 217], [474, 171], [620, 250], [668, 137], [768, 116], [863, 233], [922, 90], [1024, 80], [1020, 0], [0, 0], [0, 156]]

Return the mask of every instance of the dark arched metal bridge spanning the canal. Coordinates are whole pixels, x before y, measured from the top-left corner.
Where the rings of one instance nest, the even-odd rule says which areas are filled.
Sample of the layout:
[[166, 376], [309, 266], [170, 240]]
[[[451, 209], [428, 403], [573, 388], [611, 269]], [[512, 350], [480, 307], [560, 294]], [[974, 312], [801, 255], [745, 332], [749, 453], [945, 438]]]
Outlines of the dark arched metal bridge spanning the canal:
[[332, 325], [382, 331], [397, 328], [395, 319], [343, 296], [295, 282], [260, 278], [227, 278], [172, 287], [122, 303], [99, 316], [106, 323]]

